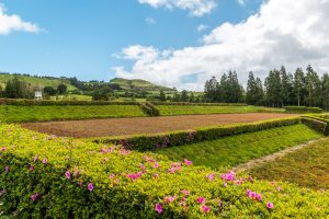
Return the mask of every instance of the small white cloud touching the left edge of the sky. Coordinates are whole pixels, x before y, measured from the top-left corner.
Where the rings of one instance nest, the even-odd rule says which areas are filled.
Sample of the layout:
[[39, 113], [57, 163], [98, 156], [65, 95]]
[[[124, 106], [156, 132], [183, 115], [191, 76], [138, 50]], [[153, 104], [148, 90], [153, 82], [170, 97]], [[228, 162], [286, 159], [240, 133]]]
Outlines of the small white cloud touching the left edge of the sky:
[[0, 35], [10, 34], [13, 31], [38, 33], [41, 30], [36, 24], [25, 22], [16, 14], [5, 14], [4, 5], [0, 3]]

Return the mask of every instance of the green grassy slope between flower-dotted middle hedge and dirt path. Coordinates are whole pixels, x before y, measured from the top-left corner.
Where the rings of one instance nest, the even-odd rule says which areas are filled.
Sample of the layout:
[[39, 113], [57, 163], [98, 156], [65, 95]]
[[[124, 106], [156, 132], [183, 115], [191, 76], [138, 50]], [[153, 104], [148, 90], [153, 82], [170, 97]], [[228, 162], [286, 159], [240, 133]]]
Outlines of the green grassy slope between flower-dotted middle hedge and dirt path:
[[171, 160], [190, 158], [195, 165], [232, 166], [320, 137], [321, 135], [300, 124], [161, 149], [157, 153]]

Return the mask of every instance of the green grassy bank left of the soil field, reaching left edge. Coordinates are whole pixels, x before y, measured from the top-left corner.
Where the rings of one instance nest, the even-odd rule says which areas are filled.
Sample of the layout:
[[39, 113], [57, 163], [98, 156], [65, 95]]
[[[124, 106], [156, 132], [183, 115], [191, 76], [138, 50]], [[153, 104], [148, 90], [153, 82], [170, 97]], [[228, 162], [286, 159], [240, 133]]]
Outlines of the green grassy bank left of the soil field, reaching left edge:
[[0, 120], [7, 123], [46, 122], [64, 119], [139, 117], [145, 116], [138, 105], [106, 106], [4, 106], [0, 105]]

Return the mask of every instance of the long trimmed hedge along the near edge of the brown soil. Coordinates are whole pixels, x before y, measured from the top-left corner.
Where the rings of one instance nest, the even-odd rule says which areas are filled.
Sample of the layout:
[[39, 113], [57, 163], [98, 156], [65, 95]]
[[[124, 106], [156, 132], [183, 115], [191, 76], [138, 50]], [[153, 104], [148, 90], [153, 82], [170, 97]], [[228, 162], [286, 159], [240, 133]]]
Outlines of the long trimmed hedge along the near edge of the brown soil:
[[273, 119], [250, 124], [219, 126], [211, 128], [198, 128], [195, 130], [164, 132], [157, 135], [139, 135], [131, 137], [97, 138], [97, 143], [123, 145], [126, 149], [137, 151], [157, 150], [159, 148], [183, 146], [205, 140], [215, 140], [225, 136], [232, 136], [243, 132], [253, 132], [274, 127], [290, 126], [300, 123], [299, 117]]

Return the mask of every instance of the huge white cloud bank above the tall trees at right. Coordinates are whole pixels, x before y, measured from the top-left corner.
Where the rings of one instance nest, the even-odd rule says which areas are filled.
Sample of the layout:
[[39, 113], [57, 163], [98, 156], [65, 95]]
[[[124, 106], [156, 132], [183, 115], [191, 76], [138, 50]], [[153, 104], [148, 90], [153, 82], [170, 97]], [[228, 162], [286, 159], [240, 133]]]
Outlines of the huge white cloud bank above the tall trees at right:
[[[249, 71], [264, 78], [281, 65], [294, 71], [310, 64], [322, 73], [329, 70], [329, 0], [269, 0], [246, 21], [214, 28], [198, 47], [163, 57], [155, 47], [137, 45], [123, 54], [135, 61], [132, 69], [122, 68], [129, 78], [180, 89], [202, 90], [205, 80], [228, 70], [237, 70], [243, 83]], [[184, 83], [189, 76], [196, 81]]]

